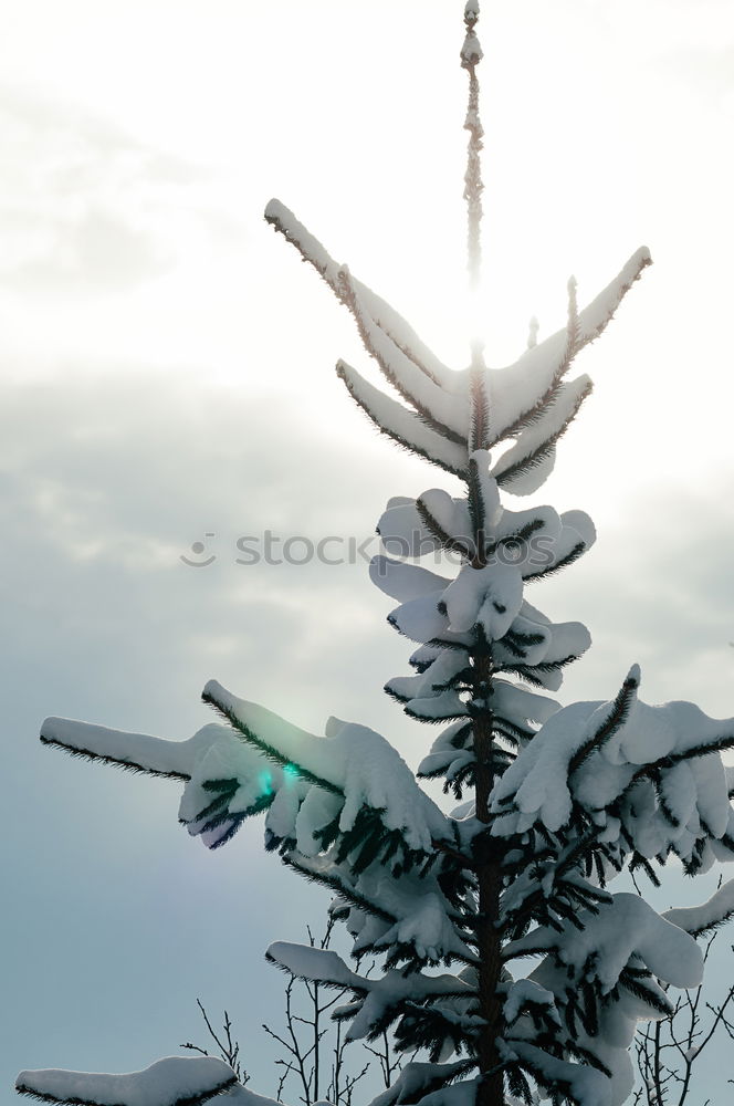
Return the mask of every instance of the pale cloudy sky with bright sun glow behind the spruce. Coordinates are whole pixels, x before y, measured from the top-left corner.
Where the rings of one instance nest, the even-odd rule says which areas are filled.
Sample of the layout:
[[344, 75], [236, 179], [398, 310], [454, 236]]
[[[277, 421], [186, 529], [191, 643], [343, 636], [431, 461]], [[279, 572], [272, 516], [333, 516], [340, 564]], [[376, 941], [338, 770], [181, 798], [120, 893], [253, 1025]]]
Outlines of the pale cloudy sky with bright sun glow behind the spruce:
[[[197, 995], [273, 1094], [262, 951], [324, 905], [260, 825], [207, 853], [176, 784], [42, 749], [44, 716], [185, 738], [216, 677], [413, 764], [433, 737], [380, 693], [409, 648], [363, 561], [242, 565], [235, 542], [360, 543], [389, 494], [450, 486], [353, 409], [333, 366], [367, 357], [262, 210], [277, 195], [464, 366], [462, 8], [24, 0], [3, 21], [3, 1104], [22, 1067], [175, 1052]], [[599, 530], [533, 595], [595, 639], [564, 697], [610, 698], [638, 660], [648, 701], [731, 716], [734, 12], [486, 2], [480, 29], [489, 359], [532, 314], [563, 324], [572, 272], [585, 300], [638, 246], [656, 262], [579, 358], [596, 393], [535, 497]]]

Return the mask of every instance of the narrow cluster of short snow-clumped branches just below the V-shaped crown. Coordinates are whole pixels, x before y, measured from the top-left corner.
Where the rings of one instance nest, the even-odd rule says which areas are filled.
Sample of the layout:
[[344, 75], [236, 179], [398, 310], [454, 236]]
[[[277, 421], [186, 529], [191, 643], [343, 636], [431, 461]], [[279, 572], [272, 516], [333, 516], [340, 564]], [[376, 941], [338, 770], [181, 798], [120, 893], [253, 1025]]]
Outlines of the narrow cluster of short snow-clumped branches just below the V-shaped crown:
[[[580, 511], [504, 509], [489, 465], [485, 451], [472, 453], [469, 500], [430, 489], [416, 500], [391, 500], [379, 521], [378, 533], [391, 553], [415, 557], [444, 549], [463, 561], [451, 578], [390, 556], [374, 557], [373, 582], [400, 599], [388, 622], [422, 645], [416, 655], [419, 675], [396, 677], [386, 691], [410, 717], [431, 722], [469, 719], [491, 693], [495, 730], [529, 739], [535, 724], [558, 709], [538, 691], [560, 687], [564, 667], [589, 647], [590, 637], [580, 623], [552, 624], [524, 599], [524, 583], [576, 560], [594, 544], [596, 532]], [[491, 692], [482, 695], [469, 658], [489, 648], [493, 680]], [[517, 686], [514, 677], [534, 690]], [[471, 732], [462, 748], [453, 744], [453, 754], [443, 737], [432, 750], [441, 755], [423, 762], [420, 774], [443, 774], [459, 795], [473, 771], [473, 753], [464, 748]]]

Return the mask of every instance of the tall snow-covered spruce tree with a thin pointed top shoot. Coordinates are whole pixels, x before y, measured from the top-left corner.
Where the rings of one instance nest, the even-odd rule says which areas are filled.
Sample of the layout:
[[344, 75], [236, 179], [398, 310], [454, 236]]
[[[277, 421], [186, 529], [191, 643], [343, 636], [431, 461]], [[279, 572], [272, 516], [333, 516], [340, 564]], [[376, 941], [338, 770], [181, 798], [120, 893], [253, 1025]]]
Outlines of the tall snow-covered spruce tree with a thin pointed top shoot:
[[[482, 128], [474, 34], [465, 9], [462, 64], [470, 77], [470, 270], [479, 271]], [[586, 514], [513, 510], [501, 494], [535, 492], [590, 382], [569, 378], [649, 263], [646, 250], [584, 310], [568, 285], [565, 328], [513, 365], [485, 367], [479, 343], [452, 372], [416, 333], [277, 201], [268, 220], [317, 270], [357, 324], [399, 398], [340, 362], [337, 372], [379, 429], [459, 481], [396, 498], [379, 521], [387, 552], [450, 550], [444, 576], [378, 556], [375, 583], [398, 606], [388, 620], [418, 643], [417, 675], [387, 691], [421, 721], [444, 723], [418, 775], [465, 800], [452, 814], [373, 730], [329, 719], [313, 734], [217, 682], [219, 712], [184, 742], [49, 719], [42, 741], [72, 753], [184, 783], [179, 816], [210, 848], [265, 815], [265, 845], [332, 894], [355, 957], [384, 957], [367, 978], [335, 951], [276, 942], [268, 956], [307, 980], [347, 989], [335, 1010], [352, 1040], [391, 1029], [419, 1050], [374, 1106], [501, 1106], [534, 1096], [614, 1106], [632, 1086], [628, 1048], [640, 1019], [670, 1011], [669, 988], [695, 987], [695, 937], [734, 912], [734, 881], [703, 907], [657, 914], [614, 894], [615, 876], [675, 856], [690, 875], [734, 858], [734, 814], [721, 753], [734, 719], [686, 702], [650, 707], [633, 666], [609, 702], [564, 709], [563, 670], [589, 645], [580, 623], [552, 623], [525, 585], [567, 567], [590, 546]], [[490, 451], [492, 451], [490, 453]], [[542, 588], [539, 588], [542, 589]], [[531, 961], [529, 964], [527, 961]], [[358, 966], [357, 966], [358, 967]], [[263, 1099], [214, 1058], [169, 1058], [130, 1076], [24, 1072], [19, 1091], [51, 1102], [184, 1106], [217, 1094]]]

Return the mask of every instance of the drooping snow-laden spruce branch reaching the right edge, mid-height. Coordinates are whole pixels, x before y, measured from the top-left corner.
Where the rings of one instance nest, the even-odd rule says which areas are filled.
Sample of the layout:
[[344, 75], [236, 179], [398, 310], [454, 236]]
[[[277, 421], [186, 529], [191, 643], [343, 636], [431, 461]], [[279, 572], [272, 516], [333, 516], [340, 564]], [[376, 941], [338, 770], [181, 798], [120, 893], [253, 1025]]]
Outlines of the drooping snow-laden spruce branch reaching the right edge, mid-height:
[[556, 832], [576, 813], [642, 857], [674, 849], [700, 867], [717, 843], [731, 849], [721, 753], [734, 748], [734, 719], [689, 702], [650, 707], [631, 697], [637, 668], [630, 681], [616, 703], [573, 703], [545, 723], [494, 789], [493, 833]]

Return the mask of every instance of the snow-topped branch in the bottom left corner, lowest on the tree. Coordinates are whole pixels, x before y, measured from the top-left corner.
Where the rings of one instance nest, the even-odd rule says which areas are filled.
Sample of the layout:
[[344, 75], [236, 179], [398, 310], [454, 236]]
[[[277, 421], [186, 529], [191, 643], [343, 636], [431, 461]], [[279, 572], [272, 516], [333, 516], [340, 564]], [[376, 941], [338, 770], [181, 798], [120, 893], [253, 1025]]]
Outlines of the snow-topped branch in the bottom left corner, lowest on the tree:
[[[21, 1072], [20, 1094], [76, 1106], [199, 1106], [237, 1084], [232, 1068], [213, 1056], [169, 1056], [127, 1075], [88, 1072]], [[244, 1088], [242, 1088], [244, 1089]], [[271, 1098], [247, 1092], [241, 1106], [272, 1106]]]

